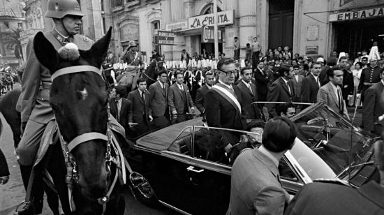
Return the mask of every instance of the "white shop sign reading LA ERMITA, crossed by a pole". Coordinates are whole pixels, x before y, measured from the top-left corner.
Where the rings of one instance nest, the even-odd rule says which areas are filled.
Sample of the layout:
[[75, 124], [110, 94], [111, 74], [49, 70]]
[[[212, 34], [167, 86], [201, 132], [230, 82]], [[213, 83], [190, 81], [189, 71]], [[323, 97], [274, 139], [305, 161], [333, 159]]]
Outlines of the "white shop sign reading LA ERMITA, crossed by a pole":
[[[190, 17], [189, 29], [200, 29], [204, 26], [213, 26], [215, 22], [213, 13]], [[233, 10], [226, 10], [217, 13], [217, 25], [233, 24]]]

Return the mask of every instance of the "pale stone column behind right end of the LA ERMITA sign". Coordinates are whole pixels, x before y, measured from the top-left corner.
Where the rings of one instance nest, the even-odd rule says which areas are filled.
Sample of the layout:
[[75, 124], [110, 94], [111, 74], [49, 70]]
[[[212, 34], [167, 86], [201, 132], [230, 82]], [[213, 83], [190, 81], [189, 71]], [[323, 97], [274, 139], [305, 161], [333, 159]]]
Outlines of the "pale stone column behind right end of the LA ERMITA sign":
[[226, 53], [226, 57], [233, 57], [233, 38], [239, 38], [239, 1], [244, 0], [223, 0], [223, 10], [235, 10], [233, 24], [226, 27], [223, 36], [223, 53]]

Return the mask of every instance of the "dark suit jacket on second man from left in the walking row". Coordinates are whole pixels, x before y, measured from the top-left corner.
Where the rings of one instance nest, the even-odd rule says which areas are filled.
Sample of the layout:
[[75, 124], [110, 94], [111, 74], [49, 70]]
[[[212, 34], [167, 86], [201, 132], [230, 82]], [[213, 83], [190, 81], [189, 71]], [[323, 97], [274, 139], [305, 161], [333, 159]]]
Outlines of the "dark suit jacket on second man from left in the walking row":
[[149, 97], [149, 92], [145, 91], [145, 101], [142, 101], [139, 89], [135, 89], [128, 94], [128, 100], [132, 103], [131, 110], [128, 115], [128, 122], [135, 122], [138, 124], [148, 123], [148, 117], [151, 114]]

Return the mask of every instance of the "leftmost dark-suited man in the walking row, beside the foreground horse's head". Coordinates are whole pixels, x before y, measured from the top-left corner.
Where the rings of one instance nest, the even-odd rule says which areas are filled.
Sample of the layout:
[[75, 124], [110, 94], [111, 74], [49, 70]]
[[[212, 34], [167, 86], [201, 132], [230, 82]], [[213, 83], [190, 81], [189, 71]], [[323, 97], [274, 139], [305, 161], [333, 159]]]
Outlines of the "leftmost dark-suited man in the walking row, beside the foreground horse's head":
[[128, 114], [132, 103], [124, 98], [125, 95], [126, 87], [118, 85], [112, 89], [108, 103], [110, 104], [110, 113], [124, 127], [126, 135], [128, 135]]

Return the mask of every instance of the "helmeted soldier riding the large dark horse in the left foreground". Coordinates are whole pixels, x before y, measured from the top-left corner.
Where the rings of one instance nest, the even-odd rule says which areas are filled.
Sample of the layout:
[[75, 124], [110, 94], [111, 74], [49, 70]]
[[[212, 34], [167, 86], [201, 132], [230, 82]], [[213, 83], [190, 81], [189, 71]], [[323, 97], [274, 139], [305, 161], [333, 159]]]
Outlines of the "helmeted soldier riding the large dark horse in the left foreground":
[[[80, 36], [82, 17], [80, 5], [76, 0], [49, 0], [45, 17], [52, 18], [54, 28], [44, 34], [45, 38], [59, 50], [67, 43], [75, 43], [80, 50], [89, 50], [94, 43], [87, 36]], [[31, 195], [26, 197], [24, 207], [17, 211], [18, 214], [40, 214], [43, 207], [43, 181], [36, 173], [32, 177], [33, 183], [29, 184], [29, 177], [33, 169], [36, 152], [38, 151], [41, 137], [45, 128], [54, 114], [50, 106], [50, 86], [52, 84], [50, 71], [41, 66], [36, 59], [33, 47], [33, 38], [27, 44], [27, 64], [22, 77], [22, 94], [17, 103], [21, 112], [22, 140], [17, 147], [22, 181], [27, 191], [31, 186]], [[33, 176], [33, 175], [32, 175]], [[33, 186], [32, 186], [33, 185]]]

